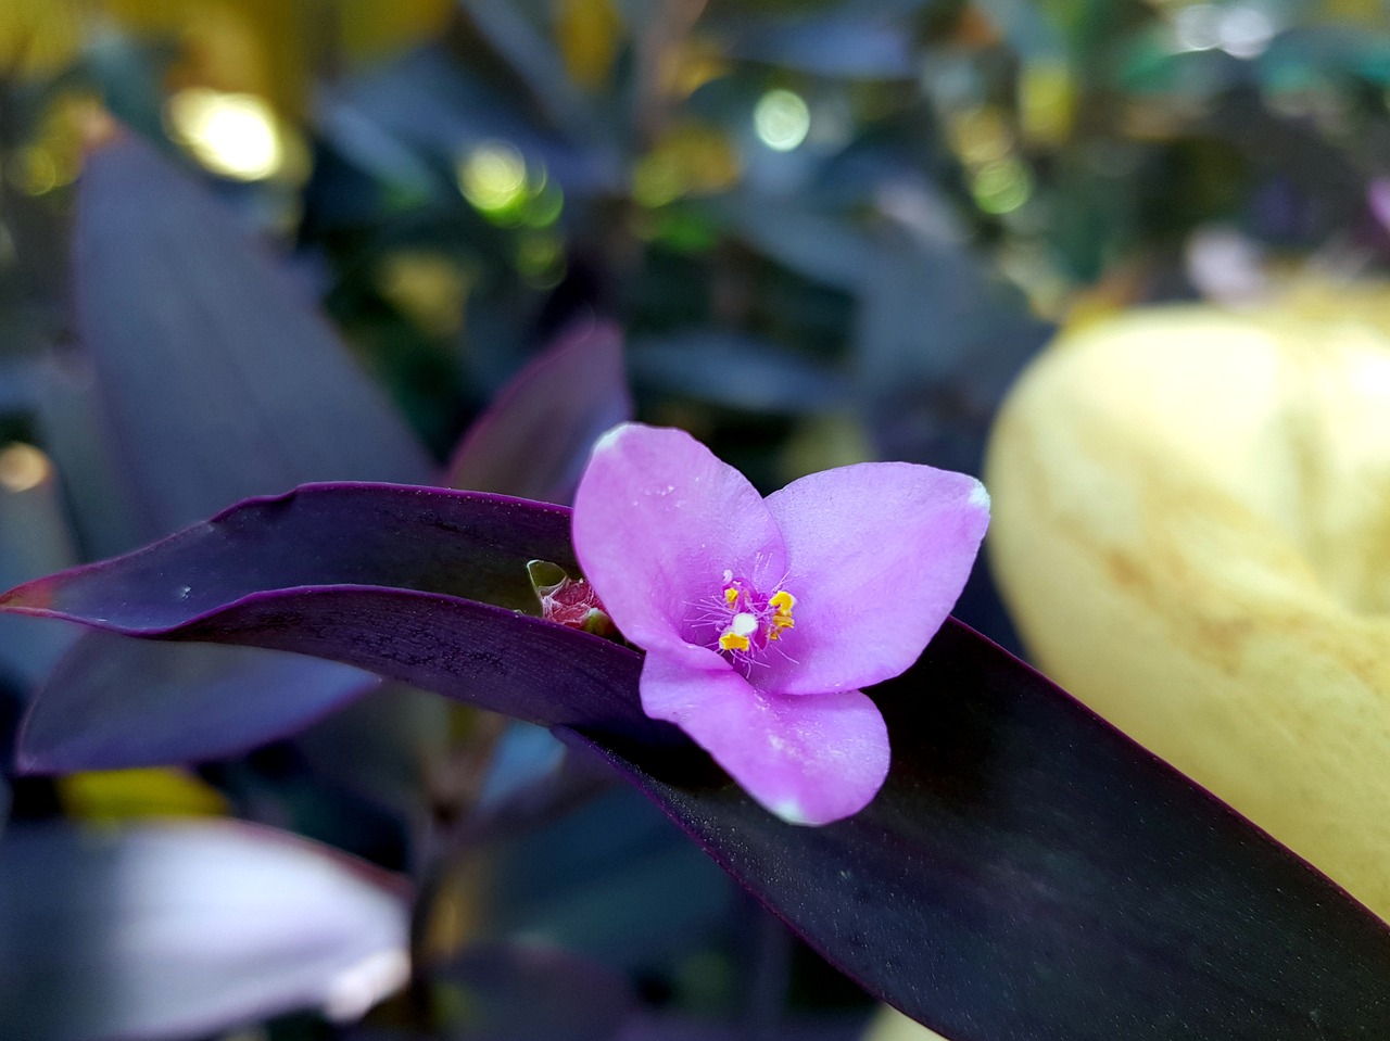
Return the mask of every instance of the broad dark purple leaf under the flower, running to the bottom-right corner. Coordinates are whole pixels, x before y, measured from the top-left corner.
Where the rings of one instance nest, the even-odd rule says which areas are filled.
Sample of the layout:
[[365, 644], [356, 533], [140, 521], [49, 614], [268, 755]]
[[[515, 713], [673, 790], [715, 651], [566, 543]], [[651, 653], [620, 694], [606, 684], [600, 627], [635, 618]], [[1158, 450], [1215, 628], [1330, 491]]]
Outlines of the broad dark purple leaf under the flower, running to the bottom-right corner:
[[873, 695], [888, 782], [824, 828], [774, 820], [698, 756], [585, 744], [952, 1041], [1390, 1031], [1384, 923], [990, 641], [952, 618]]

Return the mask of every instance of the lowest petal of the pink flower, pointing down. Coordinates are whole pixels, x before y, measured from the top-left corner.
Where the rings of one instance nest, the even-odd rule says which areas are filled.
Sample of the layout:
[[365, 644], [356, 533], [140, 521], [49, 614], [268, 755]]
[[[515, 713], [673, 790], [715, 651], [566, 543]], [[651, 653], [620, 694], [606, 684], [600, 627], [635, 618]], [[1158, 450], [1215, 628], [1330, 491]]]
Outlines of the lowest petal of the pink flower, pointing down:
[[708, 669], [649, 653], [642, 707], [695, 739], [738, 784], [790, 824], [858, 813], [888, 774], [888, 730], [859, 691], [781, 696], [755, 689], [713, 650]]

